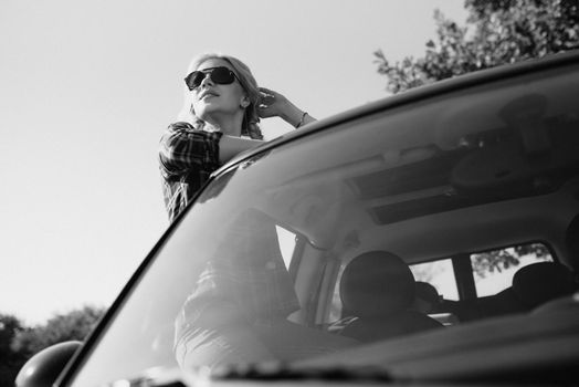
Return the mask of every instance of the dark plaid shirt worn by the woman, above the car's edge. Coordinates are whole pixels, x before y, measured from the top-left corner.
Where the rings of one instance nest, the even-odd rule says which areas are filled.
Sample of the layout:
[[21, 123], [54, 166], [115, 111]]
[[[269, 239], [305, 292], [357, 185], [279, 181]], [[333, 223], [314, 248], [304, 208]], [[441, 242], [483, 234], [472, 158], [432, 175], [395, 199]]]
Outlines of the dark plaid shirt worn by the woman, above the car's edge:
[[193, 128], [189, 123], [169, 125], [162, 135], [159, 165], [169, 220], [173, 220], [220, 167], [222, 133]]

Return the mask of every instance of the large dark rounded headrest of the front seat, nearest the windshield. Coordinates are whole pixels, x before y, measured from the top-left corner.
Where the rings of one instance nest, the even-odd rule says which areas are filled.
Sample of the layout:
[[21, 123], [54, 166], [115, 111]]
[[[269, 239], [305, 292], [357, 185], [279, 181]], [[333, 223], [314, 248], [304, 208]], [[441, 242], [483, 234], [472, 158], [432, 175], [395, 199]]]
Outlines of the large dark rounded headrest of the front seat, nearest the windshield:
[[348, 263], [340, 281], [344, 310], [358, 317], [388, 316], [414, 300], [414, 276], [398, 255], [364, 253]]

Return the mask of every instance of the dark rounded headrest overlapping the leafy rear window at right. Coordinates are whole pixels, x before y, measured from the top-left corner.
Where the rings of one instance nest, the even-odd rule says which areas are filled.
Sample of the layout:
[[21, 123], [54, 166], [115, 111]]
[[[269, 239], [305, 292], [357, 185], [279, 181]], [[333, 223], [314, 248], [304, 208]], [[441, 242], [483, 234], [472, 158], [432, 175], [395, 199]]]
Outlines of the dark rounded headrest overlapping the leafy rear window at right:
[[515, 273], [513, 290], [524, 304], [535, 307], [571, 294], [575, 290], [573, 273], [557, 262], [533, 263]]

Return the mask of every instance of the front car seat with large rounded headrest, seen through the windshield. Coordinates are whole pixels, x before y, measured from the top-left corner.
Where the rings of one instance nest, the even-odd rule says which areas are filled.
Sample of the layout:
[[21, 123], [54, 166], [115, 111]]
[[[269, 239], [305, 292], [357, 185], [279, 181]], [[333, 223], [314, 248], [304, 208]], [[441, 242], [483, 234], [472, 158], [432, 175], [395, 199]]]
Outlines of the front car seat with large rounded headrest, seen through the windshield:
[[366, 252], [344, 270], [339, 294], [343, 316], [356, 318], [341, 334], [360, 342], [442, 327], [425, 314], [410, 310], [414, 301], [414, 276], [397, 255]]

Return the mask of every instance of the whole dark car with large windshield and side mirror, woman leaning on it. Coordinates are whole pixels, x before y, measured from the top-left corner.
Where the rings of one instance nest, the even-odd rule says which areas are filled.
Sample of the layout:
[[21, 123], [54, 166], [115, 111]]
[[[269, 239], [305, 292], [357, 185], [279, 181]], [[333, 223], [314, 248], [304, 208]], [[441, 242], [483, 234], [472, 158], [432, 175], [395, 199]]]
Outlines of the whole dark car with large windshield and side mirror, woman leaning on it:
[[578, 268], [575, 51], [239, 155], [17, 385], [577, 384]]

